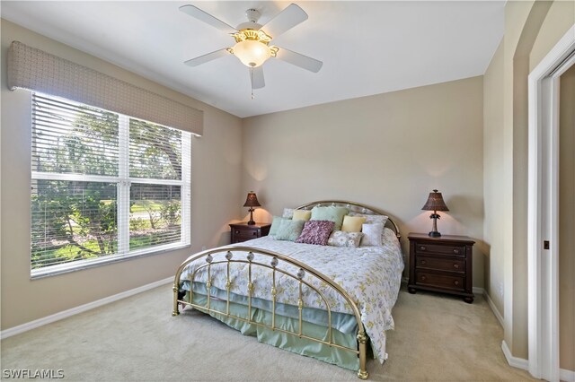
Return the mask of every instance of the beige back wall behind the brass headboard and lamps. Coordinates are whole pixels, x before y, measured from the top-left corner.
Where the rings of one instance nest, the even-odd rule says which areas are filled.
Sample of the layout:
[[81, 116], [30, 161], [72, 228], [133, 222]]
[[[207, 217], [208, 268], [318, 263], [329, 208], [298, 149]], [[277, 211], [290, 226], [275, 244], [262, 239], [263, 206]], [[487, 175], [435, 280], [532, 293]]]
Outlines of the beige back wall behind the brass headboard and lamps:
[[450, 209], [438, 230], [477, 241], [473, 285], [482, 287], [482, 104], [482, 77], [474, 77], [246, 118], [243, 190], [257, 192], [261, 221], [343, 199], [390, 213], [406, 238], [430, 230], [421, 207], [438, 188]]

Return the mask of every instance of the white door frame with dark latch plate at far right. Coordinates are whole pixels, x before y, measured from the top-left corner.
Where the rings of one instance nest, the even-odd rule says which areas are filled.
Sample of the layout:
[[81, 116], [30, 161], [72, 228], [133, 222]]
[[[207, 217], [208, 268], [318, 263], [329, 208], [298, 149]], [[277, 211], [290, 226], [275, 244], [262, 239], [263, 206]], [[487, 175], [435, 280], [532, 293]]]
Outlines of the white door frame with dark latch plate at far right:
[[573, 64], [575, 25], [528, 76], [528, 369], [549, 381], [560, 378], [559, 85]]

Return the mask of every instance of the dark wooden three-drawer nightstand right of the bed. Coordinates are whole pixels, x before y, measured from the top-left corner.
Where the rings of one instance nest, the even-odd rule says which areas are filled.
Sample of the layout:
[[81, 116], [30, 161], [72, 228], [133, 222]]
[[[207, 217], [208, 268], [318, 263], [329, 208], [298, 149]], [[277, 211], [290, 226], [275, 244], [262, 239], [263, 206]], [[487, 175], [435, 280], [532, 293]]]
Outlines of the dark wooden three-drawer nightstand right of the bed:
[[473, 302], [472, 239], [444, 235], [430, 238], [410, 233], [410, 282], [407, 290], [441, 291]]

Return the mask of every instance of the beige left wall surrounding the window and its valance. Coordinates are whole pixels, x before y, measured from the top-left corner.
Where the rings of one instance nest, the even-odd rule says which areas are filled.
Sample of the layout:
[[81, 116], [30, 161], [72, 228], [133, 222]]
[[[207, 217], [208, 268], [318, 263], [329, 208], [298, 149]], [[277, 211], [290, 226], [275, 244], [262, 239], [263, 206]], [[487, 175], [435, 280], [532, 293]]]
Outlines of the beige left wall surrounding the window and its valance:
[[[8, 91], [5, 84], [5, 53], [14, 39], [204, 110], [205, 134], [192, 142], [191, 247], [31, 281], [31, 96]], [[170, 277], [192, 251], [228, 242], [227, 222], [237, 217], [237, 201], [229, 195], [241, 189], [239, 118], [4, 20], [1, 52], [3, 330]]]

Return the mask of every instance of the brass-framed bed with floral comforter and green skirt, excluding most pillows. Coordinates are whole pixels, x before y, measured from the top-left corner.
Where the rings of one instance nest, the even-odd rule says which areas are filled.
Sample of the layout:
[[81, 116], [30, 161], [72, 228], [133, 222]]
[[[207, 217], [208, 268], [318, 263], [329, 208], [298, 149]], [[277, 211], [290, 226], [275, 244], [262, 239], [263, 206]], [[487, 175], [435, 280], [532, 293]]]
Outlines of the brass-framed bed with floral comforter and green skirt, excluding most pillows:
[[[385, 213], [354, 202], [313, 202], [292, 213], [328, 207], [345, 210], [346, 219], [375, 221], [370, 228], [385, 224], [377, 233], [381, 243], [315, 245], [279, 239], [270, 232], [199, 252], [176, 272], [173, 316], [180, 314], [180, 306], [195, 308], [242, 334], [257, 336], [261, 343], [357, 370], [358, 377], [366, 379], [367, 343], [383, 363], [385, 332], [394, 328], [391, 311], [403, 272], [400, 233]], [[289, 220], [289, 213], [284, 211], [280, 223]], [[330, 240], [332, 236], [337, 235]]]

